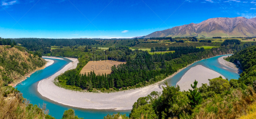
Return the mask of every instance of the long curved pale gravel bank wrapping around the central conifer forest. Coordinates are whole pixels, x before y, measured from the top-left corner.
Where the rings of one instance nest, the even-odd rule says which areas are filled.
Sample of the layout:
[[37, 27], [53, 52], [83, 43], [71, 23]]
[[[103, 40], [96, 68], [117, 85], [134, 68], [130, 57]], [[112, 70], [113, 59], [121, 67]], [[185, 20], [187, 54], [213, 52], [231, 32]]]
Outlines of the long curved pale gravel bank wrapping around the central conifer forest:
[[53, 100], [63, 105], [86, 109], [132, 109], [132, 105], [134, 104], [134, 102], [137, 101], [137, 99], [147, 96], [152, 91], [161, 92], [163, 90], [162, 86], [164, 86], [160, 85], [161, 82], [164, 82], [166, 79], [173, 77], [183, 69], [193, 64], [191, 63], [186, 67], [180, 69], [179, 71], [173, 73], [171, 76], [165, 78], [164, 80], [159, 81], [155, 84], [151, 84], [149, 86], [114, 93], [90, 93], [67, 90], [56, 86], [52, 82], [54, 81], [54, 78], [61, 73], [76, 68], [78, 60], [75, 58], [67, 59], [70, 59], [73, 62], [67, 64], [63, 69], [61, 69], [51, 77], [39, 81], [37, 85], [37, 90], [43, 97], [47, 99]]

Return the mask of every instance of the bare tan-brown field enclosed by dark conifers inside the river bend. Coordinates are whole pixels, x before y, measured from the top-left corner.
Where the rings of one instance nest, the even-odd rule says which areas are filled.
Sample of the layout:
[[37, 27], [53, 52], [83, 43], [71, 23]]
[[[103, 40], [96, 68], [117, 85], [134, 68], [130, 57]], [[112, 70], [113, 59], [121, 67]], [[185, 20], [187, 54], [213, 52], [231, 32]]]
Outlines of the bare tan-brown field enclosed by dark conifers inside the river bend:
[[94, 71], [96, 75], [98, 74], [109, 74], [111, 73], [111, 67], [114, 65], [122, 64], [125, 62], [117, 62], [112, 60], [104, 60], [104, 61], [89, 61], [83, 69], [80, 71], [81, 74], [88, 73]]

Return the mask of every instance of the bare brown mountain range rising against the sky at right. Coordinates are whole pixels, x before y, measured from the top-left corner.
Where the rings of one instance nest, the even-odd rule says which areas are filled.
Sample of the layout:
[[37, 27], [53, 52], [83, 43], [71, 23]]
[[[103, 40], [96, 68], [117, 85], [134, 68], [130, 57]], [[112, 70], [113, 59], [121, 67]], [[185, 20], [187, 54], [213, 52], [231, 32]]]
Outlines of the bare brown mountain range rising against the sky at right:
[[150, 37], [254, 37], [256, 36], [256, 18], [212, 18], [201, 23], [176, 26], [156, 31], [140, 38]]

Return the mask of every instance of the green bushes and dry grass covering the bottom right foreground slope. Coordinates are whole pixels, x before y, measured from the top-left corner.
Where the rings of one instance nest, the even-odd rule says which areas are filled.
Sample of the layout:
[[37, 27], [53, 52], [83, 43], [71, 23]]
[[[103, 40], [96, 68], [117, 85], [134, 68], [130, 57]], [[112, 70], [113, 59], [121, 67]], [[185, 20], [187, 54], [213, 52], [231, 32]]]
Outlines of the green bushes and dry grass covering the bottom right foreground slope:
[[[222, 78], [213, 78], [209, 81], [209, 86], [203, 84], [199, 88], [195, 81], [194, 85], [191, 84], [193, 90], [189, 92], [180, 92], [179, 86], [163, 87], [162, 95], [156, 96], [154, 100], [149, 100], [150, 95], [138, 99], [129, 117], [140, 119], [147, 114], [148, 118], [155, 119], [239, 118], [247, 105], [256, 101], [256, 88], [229, 88], [230, 84], [233, 87], [241, 86], [235, 79], [228, 82]], [[254, 85], [256, 87], [256, 81]]]

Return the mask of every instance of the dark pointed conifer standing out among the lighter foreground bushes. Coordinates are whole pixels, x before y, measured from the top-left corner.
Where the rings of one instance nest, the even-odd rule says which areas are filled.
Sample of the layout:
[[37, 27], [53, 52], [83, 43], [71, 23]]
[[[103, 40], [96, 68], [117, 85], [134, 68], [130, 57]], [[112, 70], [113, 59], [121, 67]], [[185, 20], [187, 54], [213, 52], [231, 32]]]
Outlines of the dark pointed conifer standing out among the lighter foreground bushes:
[[202, 102], [201, 93], [198, 92], [197, 81], [194, 81], [194, 86], [191, 84], [191, 87], [193, 90], [189, 89], [188, 99], [190, 100], [189, 104], [192, 108], [195, 108], [196, 105], [200, 104]]

